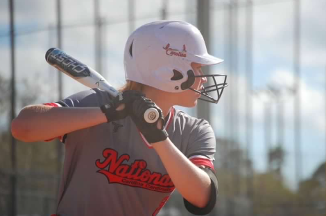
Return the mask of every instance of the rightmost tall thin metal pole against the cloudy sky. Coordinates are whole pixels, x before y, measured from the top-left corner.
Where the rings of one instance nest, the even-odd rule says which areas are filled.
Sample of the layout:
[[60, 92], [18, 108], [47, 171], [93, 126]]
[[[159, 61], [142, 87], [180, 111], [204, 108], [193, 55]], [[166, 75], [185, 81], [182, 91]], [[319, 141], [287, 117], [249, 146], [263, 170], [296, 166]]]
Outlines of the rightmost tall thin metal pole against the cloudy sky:
[[293, 69], [295, 73], [295, 90], [296, 97], [294, 100], [294, 116], [295, 116], [295, 180], [298, 183], [301, 181], [302, 176], [302, 154], [301, 154], [301, 88], [300, 88], [300, 0], [294, 3], [294, 46], [293, 46]]

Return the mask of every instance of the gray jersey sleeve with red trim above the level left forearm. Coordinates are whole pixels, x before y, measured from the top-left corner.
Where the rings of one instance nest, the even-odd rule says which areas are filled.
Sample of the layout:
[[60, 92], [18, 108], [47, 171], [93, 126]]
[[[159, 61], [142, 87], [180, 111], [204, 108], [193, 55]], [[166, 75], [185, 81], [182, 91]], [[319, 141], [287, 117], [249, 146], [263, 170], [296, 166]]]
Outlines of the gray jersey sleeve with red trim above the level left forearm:
[[[105, 91], [101, 91], [100, 89], [89, 89], [75, 93], [57, 102], [44, 103], [44, 105], [51, 107], [100, 107], [109, 100], [108, 93], [105, 93]], [[66, 137], [67, 134], [64, 134], [58, 138], [62, 143], [65, 143]], [[55, 138], [50, 138], [45, 141], [53, 141], [53, 139]]]

